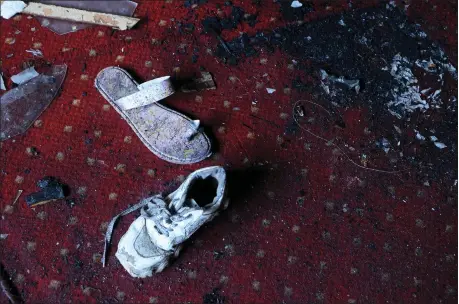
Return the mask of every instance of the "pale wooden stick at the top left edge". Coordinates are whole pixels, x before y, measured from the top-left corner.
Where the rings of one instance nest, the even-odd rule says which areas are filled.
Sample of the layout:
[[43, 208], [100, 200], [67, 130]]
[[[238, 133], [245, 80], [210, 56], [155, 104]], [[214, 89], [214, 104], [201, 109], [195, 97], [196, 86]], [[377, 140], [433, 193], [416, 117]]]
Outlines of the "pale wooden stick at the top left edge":
[[107, 13], [97, 13], [70, 7], [29, 2], [24, 14], [61, 19], [74, 22], [110, 26], [120, 30], [132, 28], [140, 19]]

